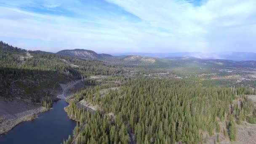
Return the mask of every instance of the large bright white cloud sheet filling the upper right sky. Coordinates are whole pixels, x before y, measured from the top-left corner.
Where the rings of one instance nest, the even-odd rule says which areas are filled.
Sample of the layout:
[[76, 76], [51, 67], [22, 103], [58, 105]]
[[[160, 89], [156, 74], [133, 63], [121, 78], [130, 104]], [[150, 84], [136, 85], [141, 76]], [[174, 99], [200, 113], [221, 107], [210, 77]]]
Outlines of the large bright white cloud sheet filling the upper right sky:
[[[178, 39], [195, 51], [252, 51], [256, 42], [255, 0], [208, 0], [194, 6], [184, 0], [107, 0], [133, 13], [154, 27], [168, 29]], [[223, 41], [223, 39], [232, 40]], [[245, 44], [239, 49], [233, 43]], [[177, 45], [170, 43], [170, 45]], [[203, 48], [203, 49], [202, 49]]]

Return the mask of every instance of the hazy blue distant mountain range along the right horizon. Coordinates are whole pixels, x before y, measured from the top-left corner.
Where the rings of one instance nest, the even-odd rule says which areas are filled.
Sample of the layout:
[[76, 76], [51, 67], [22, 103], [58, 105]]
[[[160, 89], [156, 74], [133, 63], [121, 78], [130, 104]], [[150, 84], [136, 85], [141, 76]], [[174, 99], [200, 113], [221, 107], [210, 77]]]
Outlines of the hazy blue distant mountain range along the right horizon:
[[117, 53], [114, 56], [150, 56], [157, 58], [175, 58], [175, 57], [195, 57], [198, 59], [227, 59], [233, 61], [256, 60], [256, 53], [249, 52], [223, 52], [223, 53], [202, 53], [202, 52], [182, 52], [182, 53]]

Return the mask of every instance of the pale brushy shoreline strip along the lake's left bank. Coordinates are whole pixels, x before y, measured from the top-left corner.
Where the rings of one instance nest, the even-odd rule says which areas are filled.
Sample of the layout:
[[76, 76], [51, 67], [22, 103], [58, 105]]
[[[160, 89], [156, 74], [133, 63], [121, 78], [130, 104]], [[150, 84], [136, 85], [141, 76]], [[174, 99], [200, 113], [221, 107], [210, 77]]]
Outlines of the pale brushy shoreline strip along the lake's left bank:
[[50, 109], [46, 107], [38, 107], [30, 109], [24, 112], [19, 112], [14, 115], [2, 115], [0, 116], [0, 136], [11, 131], [16, 125], [19, 125], [25, 121], [31, 121], [37, 118], [37, 114], [46, 112]]

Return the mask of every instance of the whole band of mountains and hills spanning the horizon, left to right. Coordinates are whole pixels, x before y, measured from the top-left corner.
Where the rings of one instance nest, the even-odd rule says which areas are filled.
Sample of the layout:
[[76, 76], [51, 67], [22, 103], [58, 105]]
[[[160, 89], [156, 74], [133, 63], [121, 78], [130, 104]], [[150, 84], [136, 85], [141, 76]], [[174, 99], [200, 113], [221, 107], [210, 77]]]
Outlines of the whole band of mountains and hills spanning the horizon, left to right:
[[[181, 67], [190, 65], [195, 67], [199, 65], [201, 68], [205, 65], [208, 67], [254, 67], [256, 66], [256, 53], [246, 52], [225, 52], [225, 53], [122, 53], [112, 56], [106, 53], [96, 53], [95, 51], [85, 49], [62, 50], [57, 53], [49, 53], [45, 51], [27, 51], [25, 49], [12, 47], [0, 41], [0, 50], [16, 52], [29, 52], [30, 54], [59, 54], [73, 56], [82, 59], [103, 60], [118, 65], [148, 65], [157, 67]], [[23, 53], [24, 54], [24, 53]], [[25, 55], [25, 54], [24, 54]], [[75, 58], [74, 58], [75, 59]]]

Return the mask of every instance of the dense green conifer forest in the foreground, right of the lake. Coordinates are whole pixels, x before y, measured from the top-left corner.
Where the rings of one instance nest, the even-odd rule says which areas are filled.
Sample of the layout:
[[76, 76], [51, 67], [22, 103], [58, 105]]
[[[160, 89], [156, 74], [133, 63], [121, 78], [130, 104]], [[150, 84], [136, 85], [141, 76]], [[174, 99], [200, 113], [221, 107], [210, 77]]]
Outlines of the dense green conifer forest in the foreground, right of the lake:
[[246, 87], [137, 78], [103, 96], [100, 91], [109, 87], [111, 84], [87, 88], [75, 97], [97, 106], [95, 113], [85, 112], [72, 102], [69, 105], [68, 112], [80, 120], [74, 130], [76, 143], [128, 144], [132, 141], [129, 133], [138, 144], [211, 143], [208, 138], [235, 141], [236, 124], [255, 120], [254, 103], [245, 94], [256, 91]]

